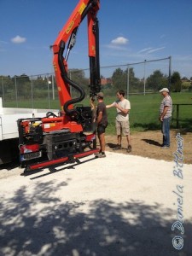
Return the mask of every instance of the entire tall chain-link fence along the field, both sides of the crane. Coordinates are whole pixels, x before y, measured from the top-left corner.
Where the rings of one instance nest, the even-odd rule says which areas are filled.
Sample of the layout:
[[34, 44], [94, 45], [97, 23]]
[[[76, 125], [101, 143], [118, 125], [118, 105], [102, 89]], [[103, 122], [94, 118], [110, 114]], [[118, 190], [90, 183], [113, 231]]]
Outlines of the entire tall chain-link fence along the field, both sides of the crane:
[[[117, 90], [125, 90], [125, 96], [131, 101], [132, 127], [156, 129], [160, 126], [157, 116], [161, 99], [157, 92], [162, 87], [171, 87], [171, 56], [153, 61], [101, 67], [100, 72], [102, 91], [107, 103], [115, 100]], [[90, 70], [72, 69], [68, 71], [68, 77], [84, 88], [87, 104]], [[70, 90], [72, 97], [79, 96], [76, 90]], [[54, 73], [14, 78], [2, 76], [0, 97], [3, 99], [3, 107], [7, 108], [61, 108]], [[115, 113], [108, 115], [112, 126], [114, 115]], [[180, 111], [179, 116], [183, 118], [184, 114]], [[172, 125], [174, 126], [173, 123]]]

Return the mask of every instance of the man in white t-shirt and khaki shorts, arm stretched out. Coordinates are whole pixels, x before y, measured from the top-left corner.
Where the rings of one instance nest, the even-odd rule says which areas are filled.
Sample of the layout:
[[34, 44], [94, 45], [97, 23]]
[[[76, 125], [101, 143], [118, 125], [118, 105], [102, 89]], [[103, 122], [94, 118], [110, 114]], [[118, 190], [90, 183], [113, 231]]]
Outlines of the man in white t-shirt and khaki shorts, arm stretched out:
[[130, 136], [130, 122], [129, 122], [129, 112], [131, 109], [131, 103], [125, 99], [125, 91], [118, 90], [116, 93], [118, 100], [106, 108], [116, 108], [117, 115], [115, 119], [115, 127], [117, 132], [117, 145], [113, 150], [118, 150], [121, 148], [122, 136], [124, 135], [127, 140], [127, 152], [131, 152], [131, 136]]

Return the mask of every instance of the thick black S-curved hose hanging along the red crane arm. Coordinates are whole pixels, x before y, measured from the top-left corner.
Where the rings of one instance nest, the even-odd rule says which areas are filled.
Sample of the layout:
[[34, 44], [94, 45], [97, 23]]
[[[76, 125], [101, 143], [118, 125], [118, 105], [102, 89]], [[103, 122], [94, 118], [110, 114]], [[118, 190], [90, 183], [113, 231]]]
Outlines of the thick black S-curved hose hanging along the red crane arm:
[[59, 52], [58, 52], [58, 62], [59, 62], [60, 70], [61, 70], [61, 78], [64, 80], [65, 83], [70, 84], [76, 90], [79, 90], [80, 96], [78, 98], [74, 98], [74, 99], [69, 100], [68, 102], [66, 102], [63, 106], [63, 109], [64, 109], [65, 113], [67, 113], [67, 115], [69, 115], [71, 118], [74, 118], [74, 117], [77, 118], [78, 115], [79, 115], [77, 109], [76, 108], [68, 109], [68, 107], [69, 107], [69, 105], [72, 105], [74, 103], [78, 103], [78, 102], [83, 101], [85, 93], [84, 93], [83, 88], [80, 87], [79, 84], [76, 84], [75, 82], [73, 82], [71, 79], [69, 79], [67, 77], [67, 71], [66, 71], [66, 68], [65, 68], [64, 63], [63, 63], [64, 49], [65, 49], [65, 42], [61, 41], [60, 49], [59, 49]]

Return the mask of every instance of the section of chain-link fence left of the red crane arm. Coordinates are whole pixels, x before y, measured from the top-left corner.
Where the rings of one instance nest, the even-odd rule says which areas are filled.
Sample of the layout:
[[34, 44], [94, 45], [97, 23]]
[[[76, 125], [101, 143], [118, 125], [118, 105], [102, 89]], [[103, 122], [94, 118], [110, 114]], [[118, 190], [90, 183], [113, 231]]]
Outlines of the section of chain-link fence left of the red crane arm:
[[58, 101], [55, 78], [50, 73], [2, 77], [0, 96], [7, 108], [52, 108]]

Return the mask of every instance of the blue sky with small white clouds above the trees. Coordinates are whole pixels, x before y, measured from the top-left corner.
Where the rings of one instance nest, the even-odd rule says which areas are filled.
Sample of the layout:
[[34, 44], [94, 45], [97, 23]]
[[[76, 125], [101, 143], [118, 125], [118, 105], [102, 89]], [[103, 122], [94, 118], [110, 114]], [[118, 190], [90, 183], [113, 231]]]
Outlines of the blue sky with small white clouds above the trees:
[[[49, 45], [78, 0], [0, 0], [0, 75], [52, 73]], [[172, 71], [192, 77], [191, 0], [101, 0], [101, 66], [172, 56]], [[68, 60], [88, 68], [86, 20]]]

